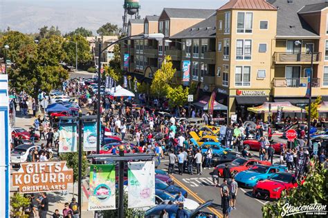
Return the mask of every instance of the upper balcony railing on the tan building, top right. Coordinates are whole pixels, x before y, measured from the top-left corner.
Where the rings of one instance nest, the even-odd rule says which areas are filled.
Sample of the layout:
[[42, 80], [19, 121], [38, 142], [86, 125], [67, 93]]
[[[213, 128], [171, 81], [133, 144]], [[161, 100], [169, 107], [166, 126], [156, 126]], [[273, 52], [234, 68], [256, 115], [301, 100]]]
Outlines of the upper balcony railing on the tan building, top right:
[[[321, 52], [313, 52], [313, 63], [318, 64], [320, 61]], [[311, 63], [311, 54], [309, 53], [286, 53], [275, 52], [274, 54], [275, 64], [309, 64]]]

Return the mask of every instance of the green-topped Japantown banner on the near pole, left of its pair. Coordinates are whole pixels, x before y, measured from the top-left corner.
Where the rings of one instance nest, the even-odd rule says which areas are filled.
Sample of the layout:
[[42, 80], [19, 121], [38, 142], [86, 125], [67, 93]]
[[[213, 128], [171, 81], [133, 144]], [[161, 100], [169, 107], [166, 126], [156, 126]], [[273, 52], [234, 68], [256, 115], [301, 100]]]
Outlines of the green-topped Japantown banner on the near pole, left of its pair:
[[89, 186], [88, 210], [114, 210], [116, 208], [114, 164], [91, 165]]

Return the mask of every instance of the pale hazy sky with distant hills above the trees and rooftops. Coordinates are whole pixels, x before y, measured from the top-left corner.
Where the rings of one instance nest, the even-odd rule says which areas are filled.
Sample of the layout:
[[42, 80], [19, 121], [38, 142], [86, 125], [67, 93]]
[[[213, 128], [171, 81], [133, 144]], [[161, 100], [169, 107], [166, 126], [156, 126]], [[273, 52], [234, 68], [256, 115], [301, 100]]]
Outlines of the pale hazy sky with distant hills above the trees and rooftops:
[[[140, 0], [140, 16], [159, 15], [163, 8], [217, 9], [228, 0]], [[98, 30], [104, 23], [122, 27], [124, 0], [0, 0], [0, 29], [24, 33], [58, 26], [62, 33], [78, 27]]]

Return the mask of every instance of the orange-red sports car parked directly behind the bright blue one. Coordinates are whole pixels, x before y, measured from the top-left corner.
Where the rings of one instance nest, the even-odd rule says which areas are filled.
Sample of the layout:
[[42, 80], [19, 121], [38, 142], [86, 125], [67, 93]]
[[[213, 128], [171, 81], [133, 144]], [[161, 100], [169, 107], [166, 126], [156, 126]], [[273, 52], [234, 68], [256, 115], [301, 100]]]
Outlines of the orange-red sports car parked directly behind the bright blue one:
[[[228, 168], [232, 175], [236, 175], [238, 172], [242, 172], [244, 170], [248, 170], [248, 168], [254, 166], [255, 164], [264, 164], [270, 166], [271, 163], [268, 161], [260, 161], [257, 159], [245, 159], [245, 158], [237, 158], [234, 161], [228, 164]], [[219, 164], [216, 168], [219, 170], [220, 176], [224, 174], [224, 168], [226, 164]]]

